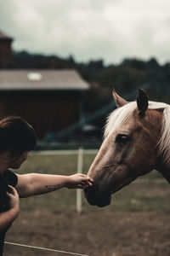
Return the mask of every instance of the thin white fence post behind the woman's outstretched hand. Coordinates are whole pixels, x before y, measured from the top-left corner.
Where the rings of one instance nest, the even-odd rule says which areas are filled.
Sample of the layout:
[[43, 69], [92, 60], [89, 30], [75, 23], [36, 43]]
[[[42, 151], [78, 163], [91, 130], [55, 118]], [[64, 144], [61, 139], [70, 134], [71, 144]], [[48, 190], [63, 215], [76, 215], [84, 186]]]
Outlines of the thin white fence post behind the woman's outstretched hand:
[[[77, 173], [82, 173], [83, 148], [78, 148]], [[77, 213], [82, 212], [82, 189], [77, 189]]]

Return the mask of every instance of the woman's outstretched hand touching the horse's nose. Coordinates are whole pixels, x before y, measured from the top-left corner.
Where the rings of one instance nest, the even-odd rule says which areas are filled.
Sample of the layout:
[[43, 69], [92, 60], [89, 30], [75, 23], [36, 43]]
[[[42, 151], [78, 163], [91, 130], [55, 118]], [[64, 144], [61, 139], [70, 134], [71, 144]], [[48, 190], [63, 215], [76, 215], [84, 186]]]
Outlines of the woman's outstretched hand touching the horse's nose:
[[87, 189], [93, 186], [94, 180], [85, 174], [77, 173], [69, 176], [69, 182], [66, 184], [68, 189]]

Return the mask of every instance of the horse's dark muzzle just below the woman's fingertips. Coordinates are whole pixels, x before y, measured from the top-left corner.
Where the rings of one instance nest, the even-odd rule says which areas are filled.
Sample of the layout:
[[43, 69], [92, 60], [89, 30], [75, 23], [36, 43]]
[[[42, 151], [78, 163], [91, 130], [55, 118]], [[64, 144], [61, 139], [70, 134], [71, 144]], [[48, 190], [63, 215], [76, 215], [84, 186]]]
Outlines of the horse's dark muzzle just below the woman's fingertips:
[[96, 184], [88, 189], [84, 189], [84, 196], [92, 206], [106, 207], [111, 204], [111, 193], [100, 191]]

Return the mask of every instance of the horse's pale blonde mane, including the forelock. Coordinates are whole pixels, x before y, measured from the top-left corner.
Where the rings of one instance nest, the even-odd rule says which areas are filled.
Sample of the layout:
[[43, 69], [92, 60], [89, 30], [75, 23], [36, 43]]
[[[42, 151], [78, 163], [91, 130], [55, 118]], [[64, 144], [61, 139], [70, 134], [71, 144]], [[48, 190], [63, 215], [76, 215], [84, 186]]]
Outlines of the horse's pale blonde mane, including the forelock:
[[[119, 129], [132, 117], [136, 102], [129, 102], [122, 108], [117, 108], [108, 117], [104, 137]], [[149, 109], [163, 109], [161, 137], [158, 142], [159, 154], [163, 154], [164, 163], [170, 166], [170, 105], [163, 102], [149, 102]]]

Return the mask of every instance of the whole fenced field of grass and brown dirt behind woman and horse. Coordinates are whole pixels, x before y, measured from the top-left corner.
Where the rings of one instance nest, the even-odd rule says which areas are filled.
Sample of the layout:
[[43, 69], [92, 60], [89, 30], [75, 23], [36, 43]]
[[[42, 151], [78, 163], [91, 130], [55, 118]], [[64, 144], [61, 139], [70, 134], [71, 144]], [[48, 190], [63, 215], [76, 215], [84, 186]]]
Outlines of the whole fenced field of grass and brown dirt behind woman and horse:
[[[94, 159], [86, 155], [83, 172]], [[77, 155], [31, 155], [20, 173], [70, 175]], [[154, 171], [112, 196], [111, 206], [90, 207], [83, 200], [76, 212], [76, 189], [20, 200], [20, 216], [6, 241], [94, 256], [170, 255], [170, 188]], [[5, 245], [4, 255], [71, 255]]]

